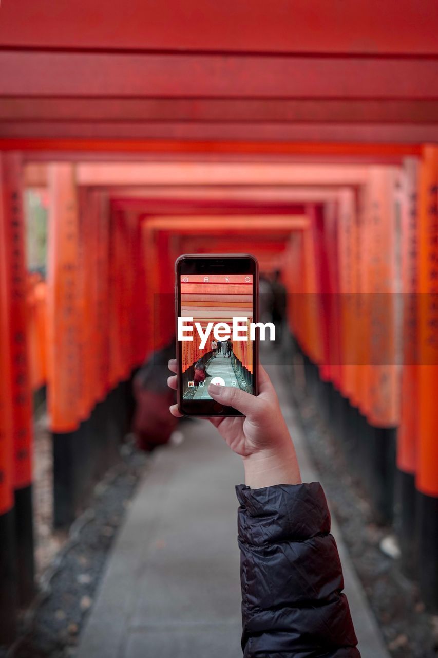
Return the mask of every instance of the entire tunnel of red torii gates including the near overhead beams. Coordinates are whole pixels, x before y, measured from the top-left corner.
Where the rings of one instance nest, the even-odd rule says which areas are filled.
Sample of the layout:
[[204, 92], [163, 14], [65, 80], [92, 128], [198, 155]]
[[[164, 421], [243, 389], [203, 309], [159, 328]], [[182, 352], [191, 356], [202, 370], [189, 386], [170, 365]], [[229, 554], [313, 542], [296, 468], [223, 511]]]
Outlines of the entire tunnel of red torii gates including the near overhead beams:
[[[281, 270], [285, 367], [304, 363], [438, 608], [438, 5], [382, 6], [2, 0], [0, 642], [34, 594], [32, 394], [47, 388], [66, 526], [117, 458], [132, 374], [174, 331], [187, 252]], [[28, 189], [45, 281], [26, 271]]]

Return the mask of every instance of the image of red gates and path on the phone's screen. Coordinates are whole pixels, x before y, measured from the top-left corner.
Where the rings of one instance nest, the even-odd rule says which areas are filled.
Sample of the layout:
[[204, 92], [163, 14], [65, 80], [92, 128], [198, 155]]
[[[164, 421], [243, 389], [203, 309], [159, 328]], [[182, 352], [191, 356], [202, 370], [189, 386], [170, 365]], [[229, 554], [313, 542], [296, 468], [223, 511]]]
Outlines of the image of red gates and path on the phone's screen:
[[[253, 389], [253, 343], [249, 340], [249, 325], [253, 322], [253, 276], [251, 274], [187, 274], [181, 276], [181, 315], [193, 318], [193, 341], [182, 344], [182, 385], [184, 399], [211, 399], [208, 384], [238, 386], [243, 391]], [[216, 341], [213, 332], [203, 349], [195, 328], [199, 322], [205, 332], [208, 323], [226, 322], [233, 317], [246, 328], [247, 339]], [[241, 335], [245, 336], [243, 332]]]

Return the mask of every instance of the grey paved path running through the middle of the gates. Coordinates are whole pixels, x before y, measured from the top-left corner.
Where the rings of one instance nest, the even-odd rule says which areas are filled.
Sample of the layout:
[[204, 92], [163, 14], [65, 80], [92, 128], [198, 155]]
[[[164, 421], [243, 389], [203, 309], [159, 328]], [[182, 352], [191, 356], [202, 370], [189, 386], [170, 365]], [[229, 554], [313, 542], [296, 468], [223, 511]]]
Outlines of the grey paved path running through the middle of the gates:
[[[318, 475], [279, 368], [269, 369], [304, 481]], [[237, 499], [233, 455], [207, 420], [157, 451], [103, 576], [78, 658], [241, 658]], [[389, 658], [333, 522], [362, 658]]]

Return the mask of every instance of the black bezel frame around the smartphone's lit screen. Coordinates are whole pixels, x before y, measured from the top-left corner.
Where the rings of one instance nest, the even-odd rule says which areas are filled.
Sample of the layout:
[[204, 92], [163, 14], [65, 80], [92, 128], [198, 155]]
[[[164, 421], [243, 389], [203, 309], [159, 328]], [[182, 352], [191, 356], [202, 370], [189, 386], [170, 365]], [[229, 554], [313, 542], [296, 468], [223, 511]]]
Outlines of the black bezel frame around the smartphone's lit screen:
[[[253, 276], [253, 322], [258, 322], [258, 261], [248, 253], [184, 254], [175, 261], [175, 326], [181, 315], [181, 275], [183, 274], [251, 274]], [[177, 337], [177, 331], [175, 336]], [[182, 343], [176, 338], [178, 409], [183, 416], [195, 418], [235, 417], [243, 414], [233, 407], [217, 411], [214, 400], [184, 400], [182, 397]], [[253, 342], [253, 386], [258, 395], [258, 331]], [[216, 409], [214, 409], [216, 405]]]

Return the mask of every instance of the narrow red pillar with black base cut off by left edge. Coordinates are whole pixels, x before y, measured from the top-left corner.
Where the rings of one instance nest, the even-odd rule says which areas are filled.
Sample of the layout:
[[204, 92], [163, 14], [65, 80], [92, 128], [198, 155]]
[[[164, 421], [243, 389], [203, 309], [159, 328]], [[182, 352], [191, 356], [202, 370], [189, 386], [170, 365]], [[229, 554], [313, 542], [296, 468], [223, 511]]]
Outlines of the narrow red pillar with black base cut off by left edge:
[[[0, 160], [0, 180], [7, 166]], [[16, 542], [14, 532], [14, 442], [12, 437], [11, 326], [7, 285], [7, 214], [0, 203], [0, 645], [12, 642], [16, 632], [18, 603]]]

